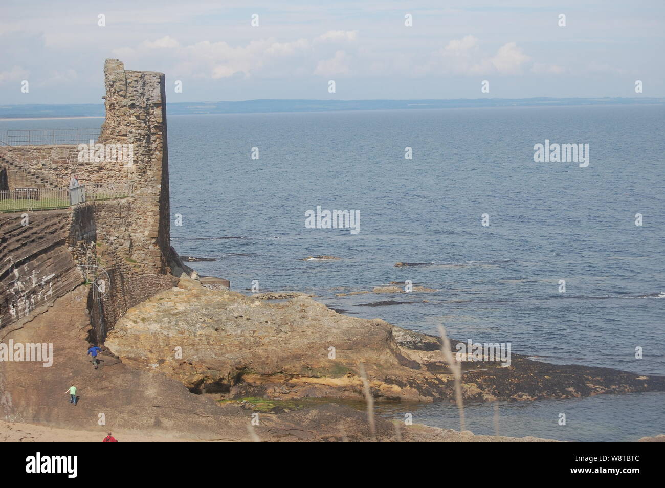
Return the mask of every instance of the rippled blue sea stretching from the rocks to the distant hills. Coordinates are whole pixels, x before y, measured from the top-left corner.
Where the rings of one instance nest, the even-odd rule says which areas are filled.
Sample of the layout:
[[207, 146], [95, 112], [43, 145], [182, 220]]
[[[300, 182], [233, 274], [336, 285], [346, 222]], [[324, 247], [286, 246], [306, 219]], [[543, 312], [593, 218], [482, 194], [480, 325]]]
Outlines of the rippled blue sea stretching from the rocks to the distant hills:
[[[665, 374], [664, 121], [664, 106], [170, 116], [171, 209], [182, 215], [172, 244], [217, 259], [191, 264], [243, 293], [257, 280], [261, 291], [313, 293], [353, 316], [511, 342], [546, 362]], [[1, 121], [0, 130], [100, 122]], [[589, 144], [589, 166], [534, 162], [545, 140]], [[317, 206], [359, 211], [360, 232], [305, 227]], [[301, 261], [316, 255], [341, 259]], [[438, 291], [336, 296], [405, 280]], [[387, 300], [409, 303], [360, 306]], [[459, 427], [450, 405], [380, 411], [400, 418], [405, 408], [414, 422]], [[504, 435], [665, 433], [665, 393], [499, 410]], [[467, 428], [493, 433], [492, 416], [491, 405], [470, 406]]]

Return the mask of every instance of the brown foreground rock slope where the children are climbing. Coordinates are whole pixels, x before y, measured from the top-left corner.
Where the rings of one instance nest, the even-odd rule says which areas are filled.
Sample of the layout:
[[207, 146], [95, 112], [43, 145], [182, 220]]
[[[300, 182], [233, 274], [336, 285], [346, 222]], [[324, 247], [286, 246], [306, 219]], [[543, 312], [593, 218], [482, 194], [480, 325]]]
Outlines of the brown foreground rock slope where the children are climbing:
[[[212, 293], [212, 292], [210, 292]], [[94, 370], [86, 350], [90, 323], [86, 286], [55, 300], [25, 326], [0, 331], [8, 343], [50, 342], [53, 364], [3, 362], [0, 367], [0, 440], [100, 441], [109, 430], [120, 441], [368, 441], [372, 439], [364, 410], [327, 404], [306, 408], [253, 409], [215, 402], [192, 394], [182, 382], [154, 368], [132, 368], [104, 348]], [[112, 335], [122, 334], [114, 330]], [[146, 344], [146, 349], [150, 348]], [[70, 384], [78, 404], [68, 402]], [[247, 402], [241, 402], [247, 403]], [[258, 417], [253, 417], [257, 414]], [[258, 420], [258, 425], [251, 422]], [[100, 422], [103, 421], [103, 424]], [[41, 425], [34, 425], [41, 424]], [[376, 417], [379, 441], [539, 441], [404, 426]], [[48, 426], [48, 427], [45, 427]]]

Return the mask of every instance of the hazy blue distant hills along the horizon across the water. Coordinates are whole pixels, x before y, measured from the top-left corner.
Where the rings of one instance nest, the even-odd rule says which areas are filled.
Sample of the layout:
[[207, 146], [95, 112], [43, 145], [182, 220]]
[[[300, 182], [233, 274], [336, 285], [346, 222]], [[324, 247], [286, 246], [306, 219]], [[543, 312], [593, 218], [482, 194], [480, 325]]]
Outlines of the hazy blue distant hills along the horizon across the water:
[[[462, 98], [457, 100], [244, 100], [242, 102], [172, 102], [170, 115], [251, 114], [261, 112], [336, 112], [340, 110], [414, 110], [515, 106], [585, 106], [665, 104], [665, 98]], [[103, 104], [1, 105], [0, 118], [104, 116]]]

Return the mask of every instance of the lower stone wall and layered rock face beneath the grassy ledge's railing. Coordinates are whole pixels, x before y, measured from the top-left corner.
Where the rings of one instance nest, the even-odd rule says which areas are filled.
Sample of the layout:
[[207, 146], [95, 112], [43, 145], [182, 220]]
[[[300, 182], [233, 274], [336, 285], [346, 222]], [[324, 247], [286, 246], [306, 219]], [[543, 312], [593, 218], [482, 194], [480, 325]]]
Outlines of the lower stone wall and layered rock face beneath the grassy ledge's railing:
[[129, 308], [174, 287], [176, 277], [144, 271], [128, 257], [131, 213], [131, 199], [89, 202], [73, 210], [0, 213], [0, 328], [30, 320], [83, 285], [80, 265], [108, 273], [99, 300], [92, 297], [94, 283], [86, 285], [96, 342], [104, 341]]

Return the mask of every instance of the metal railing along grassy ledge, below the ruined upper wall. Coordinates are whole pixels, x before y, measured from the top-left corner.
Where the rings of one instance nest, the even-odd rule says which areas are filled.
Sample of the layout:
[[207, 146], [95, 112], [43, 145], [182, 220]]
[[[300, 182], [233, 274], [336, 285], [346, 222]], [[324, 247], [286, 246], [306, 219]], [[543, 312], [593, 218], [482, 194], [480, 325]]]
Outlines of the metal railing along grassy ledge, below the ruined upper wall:
[[132, 193], [132, 183], [88, 183], [72, 189], [16, 188], [0, 191], [0, 212], [61, 209], [85, 201], [125, 198]]

